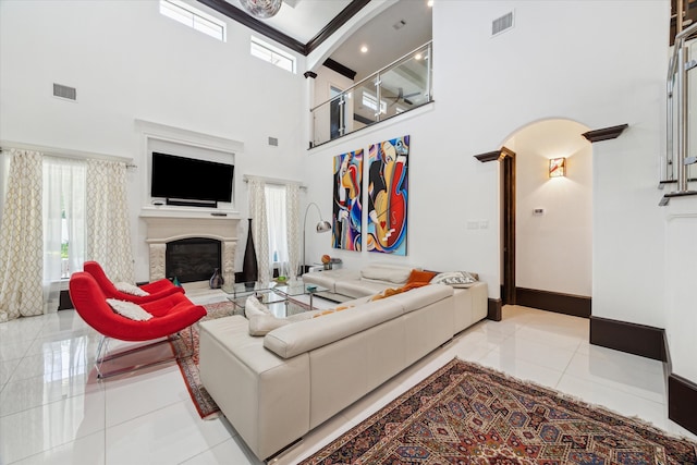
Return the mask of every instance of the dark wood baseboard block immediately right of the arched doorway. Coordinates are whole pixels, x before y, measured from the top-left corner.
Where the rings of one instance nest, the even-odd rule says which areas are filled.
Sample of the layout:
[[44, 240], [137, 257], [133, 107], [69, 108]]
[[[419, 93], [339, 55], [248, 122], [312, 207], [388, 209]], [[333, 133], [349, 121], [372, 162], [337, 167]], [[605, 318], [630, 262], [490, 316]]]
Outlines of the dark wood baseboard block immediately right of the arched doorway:
[[590, 317], [590, 343], [667, 362], [665, 331], [646, 325]]

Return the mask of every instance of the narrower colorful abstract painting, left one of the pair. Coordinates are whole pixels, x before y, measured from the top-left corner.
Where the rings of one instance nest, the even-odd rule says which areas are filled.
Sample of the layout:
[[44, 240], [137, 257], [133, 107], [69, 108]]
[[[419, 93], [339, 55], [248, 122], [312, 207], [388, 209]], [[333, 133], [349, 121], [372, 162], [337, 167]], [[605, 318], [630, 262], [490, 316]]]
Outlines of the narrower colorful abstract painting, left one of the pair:
[[363, 149], [334, 157], [333, 191], [332, 245], [344, 250], [360, 250]]

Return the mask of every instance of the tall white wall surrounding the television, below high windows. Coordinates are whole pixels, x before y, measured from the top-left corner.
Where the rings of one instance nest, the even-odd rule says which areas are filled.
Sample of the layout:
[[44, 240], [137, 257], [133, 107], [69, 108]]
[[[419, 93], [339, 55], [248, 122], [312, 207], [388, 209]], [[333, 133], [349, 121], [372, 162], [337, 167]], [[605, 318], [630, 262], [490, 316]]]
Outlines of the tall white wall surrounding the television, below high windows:
[[[249, 56], [249, 29], [227, 23], [223, 44], [160, 15], [156, 1], [0, 2], [0, 139], [133, 158], [138, 280], [148, 276], [138, 219], [147, 162], [136, 119], [242, 142], [244, 152], [235, 157], [242, 218], [243, 174], [302, 178], [305, 58], [298, 57], [295, 75], [265, 63]], [[52, 83], [76, 87], [77, 102], [52, 97]], [[278, 147], [268, 145], [269, 136]]]

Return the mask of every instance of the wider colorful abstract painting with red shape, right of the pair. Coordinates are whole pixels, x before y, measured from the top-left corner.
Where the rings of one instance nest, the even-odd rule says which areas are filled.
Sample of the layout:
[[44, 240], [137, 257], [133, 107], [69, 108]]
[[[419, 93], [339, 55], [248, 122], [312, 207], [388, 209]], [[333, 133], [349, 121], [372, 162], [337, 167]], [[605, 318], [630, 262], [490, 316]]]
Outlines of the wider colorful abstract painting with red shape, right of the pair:
[[368, 151], [367, 248], [406, 255], [409, 136], [374, 144]]

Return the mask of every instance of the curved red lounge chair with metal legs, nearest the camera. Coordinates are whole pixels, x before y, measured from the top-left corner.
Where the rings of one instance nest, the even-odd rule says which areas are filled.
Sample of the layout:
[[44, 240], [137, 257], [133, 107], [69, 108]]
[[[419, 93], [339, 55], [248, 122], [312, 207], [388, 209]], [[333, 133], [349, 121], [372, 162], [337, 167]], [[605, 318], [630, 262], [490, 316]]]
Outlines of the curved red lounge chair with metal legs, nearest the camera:
[[[70, 298], [77, 314], [85, 320], [87, 325], [102, 334], [97, 350], [97, 368], [98, 378], [109, 378], [111, 376], [121, 375], [133, 371], [135, 369], [150, 367], [178, 358], [185, 358], [192, 354], [175, 354], [174, 357], [158, 359], [151, 363], [137, 364], [129, 367], [103, 372], [101, 365], [105, 362], [112, 360], [129, 354], [133, 354], [152, 345], [169, 342], [174, 335], [188, 328], [192, 333], [192, 325], [206, 316], [206, 309], [200, 305], [194, 305], [184, 294], [176, 292], [163, 296], [158, 301], [138, 304], [144, 310], [152, 315], [152, 318], [145, 321], [137, 321], [126, 318], [114, 313], [107, 303], [107, 298], [115, 298], [106, 296], [95, 278], [87, 272], [75, 272], [70, 278]], [[142, 345], [124, 352], [119, 352], [107, 356], [109, 339], [118, 339], [121, 341], [154, 341], [150, 344]], [[166, 338], [166, 339], [162, 339]], [[158, 340], [158, 341], [155, 341]], [[101, 355], [103, 351], [103, 356]]]

